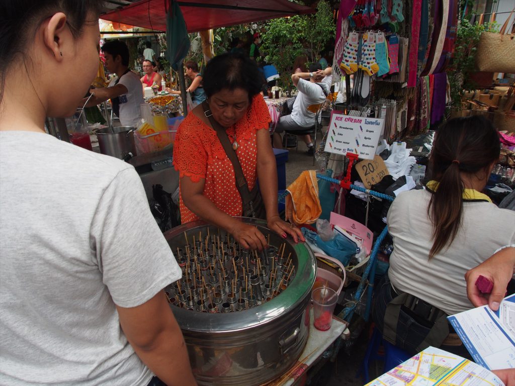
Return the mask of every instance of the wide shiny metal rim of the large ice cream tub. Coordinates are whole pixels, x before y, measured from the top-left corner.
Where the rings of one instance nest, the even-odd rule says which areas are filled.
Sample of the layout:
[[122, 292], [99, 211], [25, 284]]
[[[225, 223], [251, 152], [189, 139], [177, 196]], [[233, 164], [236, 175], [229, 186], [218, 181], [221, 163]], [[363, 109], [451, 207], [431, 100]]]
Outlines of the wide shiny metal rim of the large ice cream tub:
[[[171, 306], [181, 328], [200, 332], [237, 331], [252, 328], [256, 325], [270, 322], [281, 314], [296, 308], [309, 296], [316, 278], [315, 255], [304, 243], [295, 244], [289, 239], [284, 240], [279, 235], [266, 228], [266, 222], [250, 218], [240, 218], [247, 223], [255, 224], [265, 235], [270, 234], [270, 244], [280, 245], [286, 243], [285, 254], [291, 252], [296, 267], [296, 274], [288, 287], [278, 296], [266, 303], [247, 310], [228, 313], [204, 313], [190, 311], [177, 306]], [[207, 224], [203, 221], [194, 221], [175, 227], [164, 233], [172, 251], [181, 248], [185, 243], [184, 232], [190, 237], [205, 229]], [[212, 234], [216, 227], [209, 225]]]

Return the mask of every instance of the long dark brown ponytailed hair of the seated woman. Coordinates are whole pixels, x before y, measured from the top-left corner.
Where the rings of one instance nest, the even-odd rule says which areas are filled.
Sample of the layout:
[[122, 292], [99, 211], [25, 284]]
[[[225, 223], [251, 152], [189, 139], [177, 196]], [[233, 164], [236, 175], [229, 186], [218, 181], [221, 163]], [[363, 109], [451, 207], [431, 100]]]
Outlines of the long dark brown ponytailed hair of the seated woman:
[[499, 134], [482, 116], [451, 119], [440, 129], [431, 154], [435, 188], [427, 207], [433, 223], [433, 247], [429, 258], [449, 246], [461, 223], [462, 175], [484, 178], [488, 167], [499, 159]]

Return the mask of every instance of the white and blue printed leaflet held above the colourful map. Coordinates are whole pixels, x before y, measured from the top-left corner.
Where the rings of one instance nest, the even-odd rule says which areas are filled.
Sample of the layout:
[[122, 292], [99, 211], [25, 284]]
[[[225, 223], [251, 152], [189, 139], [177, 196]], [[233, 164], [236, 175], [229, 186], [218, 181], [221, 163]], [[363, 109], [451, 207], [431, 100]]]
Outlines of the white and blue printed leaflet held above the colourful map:
[[483, 306], [448, 317], [474, 362], [489, 370], [515, 368], [515, 295], [498, 311]]

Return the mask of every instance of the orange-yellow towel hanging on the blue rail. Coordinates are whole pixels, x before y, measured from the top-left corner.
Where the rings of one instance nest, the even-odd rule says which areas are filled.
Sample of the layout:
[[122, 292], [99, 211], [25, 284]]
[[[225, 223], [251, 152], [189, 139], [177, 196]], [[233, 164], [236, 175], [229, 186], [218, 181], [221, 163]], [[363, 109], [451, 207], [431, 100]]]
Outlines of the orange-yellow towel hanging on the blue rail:
[[289, 220], [297, 225], [314, 223], [322, 213], [316, 171], [303, 171], [286, 190], [286, 213], [293, 212]]

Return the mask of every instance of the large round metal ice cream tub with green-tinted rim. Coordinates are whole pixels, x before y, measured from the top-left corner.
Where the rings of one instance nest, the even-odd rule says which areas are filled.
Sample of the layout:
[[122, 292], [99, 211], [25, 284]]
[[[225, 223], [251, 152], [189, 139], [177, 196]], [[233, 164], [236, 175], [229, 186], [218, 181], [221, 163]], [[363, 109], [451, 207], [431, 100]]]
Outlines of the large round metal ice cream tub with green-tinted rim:
[[[256, 225], [271, 245], [286, 242], [295, 277], [287, 288], [259, 306], [228, 313], [196, 312], [171, 306], [182, 329], [193, 373], [199, 385], [246, 385], [266, 383], [283, 375], [299, 358], [307, 342], [311, 288], [316, 277], [313, 252], [303, 243], [280, 238], [262, 220], [242, 218]], [[217, 235], [214, 226], [195, 221], [164, 234], [176, 251], [199, 232]], [[222, 231], [221, 236], [224, 237]]]

